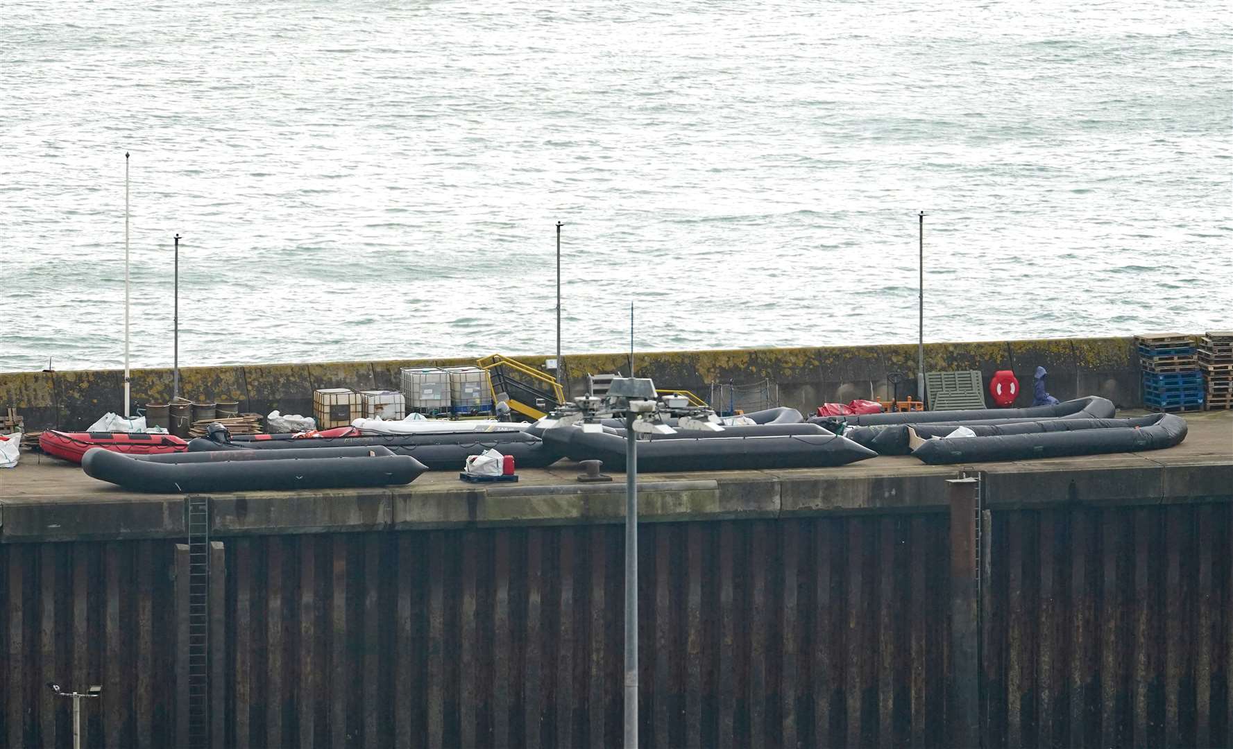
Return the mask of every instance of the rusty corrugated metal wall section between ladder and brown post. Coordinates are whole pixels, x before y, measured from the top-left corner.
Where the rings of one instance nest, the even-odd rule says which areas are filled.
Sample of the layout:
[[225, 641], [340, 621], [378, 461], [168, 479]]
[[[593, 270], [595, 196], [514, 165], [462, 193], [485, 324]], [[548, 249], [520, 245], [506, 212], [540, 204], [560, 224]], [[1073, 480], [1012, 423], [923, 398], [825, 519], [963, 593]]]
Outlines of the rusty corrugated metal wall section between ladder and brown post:
[[[229, 742], [619, 744], [621, 532], [228, 542], [249, 570], [228, 583]], [[645, 747], [940, 743], [944, 516], [661, 524], [640, 542]]]

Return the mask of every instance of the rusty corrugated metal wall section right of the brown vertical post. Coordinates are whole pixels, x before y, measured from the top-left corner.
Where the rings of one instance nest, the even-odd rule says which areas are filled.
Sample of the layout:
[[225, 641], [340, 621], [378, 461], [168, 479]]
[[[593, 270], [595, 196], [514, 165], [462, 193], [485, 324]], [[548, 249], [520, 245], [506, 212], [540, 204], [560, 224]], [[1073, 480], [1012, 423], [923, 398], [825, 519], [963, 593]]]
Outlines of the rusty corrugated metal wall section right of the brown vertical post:
[[1233, 745], [1233, 505], [993, 514], [985, 747]]

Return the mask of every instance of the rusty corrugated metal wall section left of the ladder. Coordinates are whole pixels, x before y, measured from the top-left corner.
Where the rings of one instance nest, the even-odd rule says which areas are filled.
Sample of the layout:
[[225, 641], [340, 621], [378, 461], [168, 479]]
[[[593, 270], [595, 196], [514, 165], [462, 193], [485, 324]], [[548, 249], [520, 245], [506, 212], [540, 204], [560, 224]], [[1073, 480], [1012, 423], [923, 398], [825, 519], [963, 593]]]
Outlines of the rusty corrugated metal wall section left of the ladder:
[[83, 745], [170, 745], [170, 565], [164, 541], [0, 547], [0, 743], [73, 745], [73, 701], [54, 681], [102, 686], [83, 701]]

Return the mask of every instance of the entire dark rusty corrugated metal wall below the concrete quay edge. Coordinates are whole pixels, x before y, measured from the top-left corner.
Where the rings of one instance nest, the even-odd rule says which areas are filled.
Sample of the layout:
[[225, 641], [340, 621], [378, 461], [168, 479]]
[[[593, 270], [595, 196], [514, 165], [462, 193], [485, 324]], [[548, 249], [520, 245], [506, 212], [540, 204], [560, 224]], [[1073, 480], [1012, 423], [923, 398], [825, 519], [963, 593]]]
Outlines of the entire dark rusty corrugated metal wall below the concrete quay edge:
[[[948, 747], [961, 703], [986, 748], [1231, 745], [1231, 469], [988, 473], [958, 520], [927, 468], [792, 512], [787, 478], [774, 501], [647, 508], [642, 745]], [[282, 531], [261, 509], [279, 495], [211, 503], [211, 745], [619, 745], [619, 503], [385, 522], [371, 494]], [[104, 687], [85, 747], [184, 745], [187, 548], [165, 525], [0, 543], [0, 743], [70, 745], [55, 680]], [[964, 658], [957, 621], [979, 637]]]

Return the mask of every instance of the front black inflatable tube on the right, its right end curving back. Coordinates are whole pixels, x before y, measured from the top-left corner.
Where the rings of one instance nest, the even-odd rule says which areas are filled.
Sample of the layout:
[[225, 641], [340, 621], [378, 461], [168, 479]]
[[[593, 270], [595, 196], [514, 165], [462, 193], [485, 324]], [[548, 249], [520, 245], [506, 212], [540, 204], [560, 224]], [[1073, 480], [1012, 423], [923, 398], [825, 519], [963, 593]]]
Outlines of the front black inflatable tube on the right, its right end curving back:
[[[988, 461], [1023, 461], [1057, 458], [1110, 452], [1163, 450], [1180, 445], [1186, 439], [1186, 420], [1174, 414], [1154, 414], [1144, 419], [1145, 426], [1113, 426], [1033, 434], [991, 434], [975, 437], [925, 440], [912, 450], [912, 456], [930, 466], [948, 463], [981, 463]], [[1127, 419], [1141, 421], [1141, 419]], [[1007, 425], [1018, 429], [1018, 425]], [[973, 427], [975, 431], [977, 427]], [[1002, 429], [984, 426], [981, 429]], [[915, 442], [915, 440], [914, 440]]]

